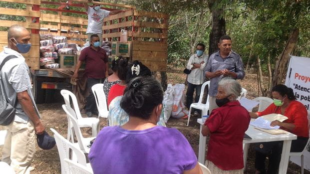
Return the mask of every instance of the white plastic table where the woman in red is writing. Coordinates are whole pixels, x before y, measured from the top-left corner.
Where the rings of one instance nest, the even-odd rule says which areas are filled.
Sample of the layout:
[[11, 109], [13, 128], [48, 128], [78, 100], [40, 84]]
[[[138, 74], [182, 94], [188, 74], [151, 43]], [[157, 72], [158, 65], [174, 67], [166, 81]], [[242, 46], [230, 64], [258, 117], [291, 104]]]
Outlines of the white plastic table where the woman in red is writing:
[[[206, 140], [207, 138], [201, 134], [202, 127], [204, 123], [202, 119], [198, 119], [197, 122], [200, 124], [200, 136], [199, 136], [199, 152], [198, 152], [198, 162], [205, 164], [205, 156], [206, 156]], [[244, 153], [243, 153], [243, 160], [244, 160], [244, 169], [246, 169], [247, 164], [247, 156], [248, 156], [248, 149], [250, 143], [261, 143], [261, 142], [274, 142], [274, 141], [283, 141], [283, 150], [281, 155], [281, 162], [279, 166], [279, 174], [286, 174], [289, 165], [289, 158], [290, 158], [290, 150], [292, 140], [296, 140], [297, 136], [287, 132], [286, 134], [280, 135], [271, 135], [255, 129], [253, 126], [249, 126], [246, 134], [249, 135], [252, 140], [243, 140], [244, 144]]]

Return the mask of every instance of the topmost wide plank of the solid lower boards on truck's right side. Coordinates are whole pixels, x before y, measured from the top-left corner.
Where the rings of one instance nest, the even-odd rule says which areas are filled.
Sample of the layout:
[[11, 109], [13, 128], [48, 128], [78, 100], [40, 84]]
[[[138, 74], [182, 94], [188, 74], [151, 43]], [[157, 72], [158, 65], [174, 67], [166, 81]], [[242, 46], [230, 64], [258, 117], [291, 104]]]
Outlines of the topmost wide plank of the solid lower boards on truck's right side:
[[167, 42], [132, 41], [132, 50], [167, 52], [167, 47]]

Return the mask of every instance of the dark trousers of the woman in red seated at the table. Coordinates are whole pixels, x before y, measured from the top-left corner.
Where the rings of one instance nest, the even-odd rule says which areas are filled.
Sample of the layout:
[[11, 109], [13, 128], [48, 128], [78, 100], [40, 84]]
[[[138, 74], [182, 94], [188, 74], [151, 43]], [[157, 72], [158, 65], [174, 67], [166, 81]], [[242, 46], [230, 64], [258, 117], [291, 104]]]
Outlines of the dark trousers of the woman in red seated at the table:
[[[308, 142], [306, 137], [297, 137], [297, 140], [292, 141], [291, 152], [302, 152]], [[279, 165], [281, 161], [281, 154], [283, 148], [283, 141], [275, 144], [272, 147], [270, 154], [266, 155], [256, 151], [255, 168], [262, 174], [278, 174]], [[269, 159], [268, 170], [265, 169], [266, 157]]]

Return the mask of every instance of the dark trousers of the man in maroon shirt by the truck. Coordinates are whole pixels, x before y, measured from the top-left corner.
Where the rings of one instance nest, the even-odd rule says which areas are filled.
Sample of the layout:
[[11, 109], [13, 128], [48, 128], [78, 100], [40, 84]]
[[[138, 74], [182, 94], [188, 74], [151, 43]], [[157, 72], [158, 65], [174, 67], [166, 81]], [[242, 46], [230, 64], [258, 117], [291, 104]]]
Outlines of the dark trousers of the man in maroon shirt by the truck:
[[98, 112], [95, 96], [91, 91], [91, 87], [95, 84], [102, 83], [103, 81], [104, 78], [103, 79], [87, 78], [87, 88], [89, 90], [89, 95], [86, 98], [86, 106], [85, 106], [86, 112], [92, 112], [93, 114], [96, 114], [96, 112]]

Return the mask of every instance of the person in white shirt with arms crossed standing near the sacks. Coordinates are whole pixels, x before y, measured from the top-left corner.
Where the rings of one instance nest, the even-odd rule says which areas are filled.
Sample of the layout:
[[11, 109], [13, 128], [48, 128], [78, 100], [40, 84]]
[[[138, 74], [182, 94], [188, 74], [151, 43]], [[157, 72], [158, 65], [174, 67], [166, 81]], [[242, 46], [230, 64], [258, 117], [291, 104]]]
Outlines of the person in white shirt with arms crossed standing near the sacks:
[[196, 46], [196, 54], [193, 54], [187, 63], [187, 69], [191, 73], [187, 77], [186, 106], [189, 109], [193, 103], [193, 95], [196, 90], [195, 102], [199, 101], [201, 85], [205, 81], [204, 68], [208, 62], [208, 55], [204, 54], [205, 45], [198, 43]]

